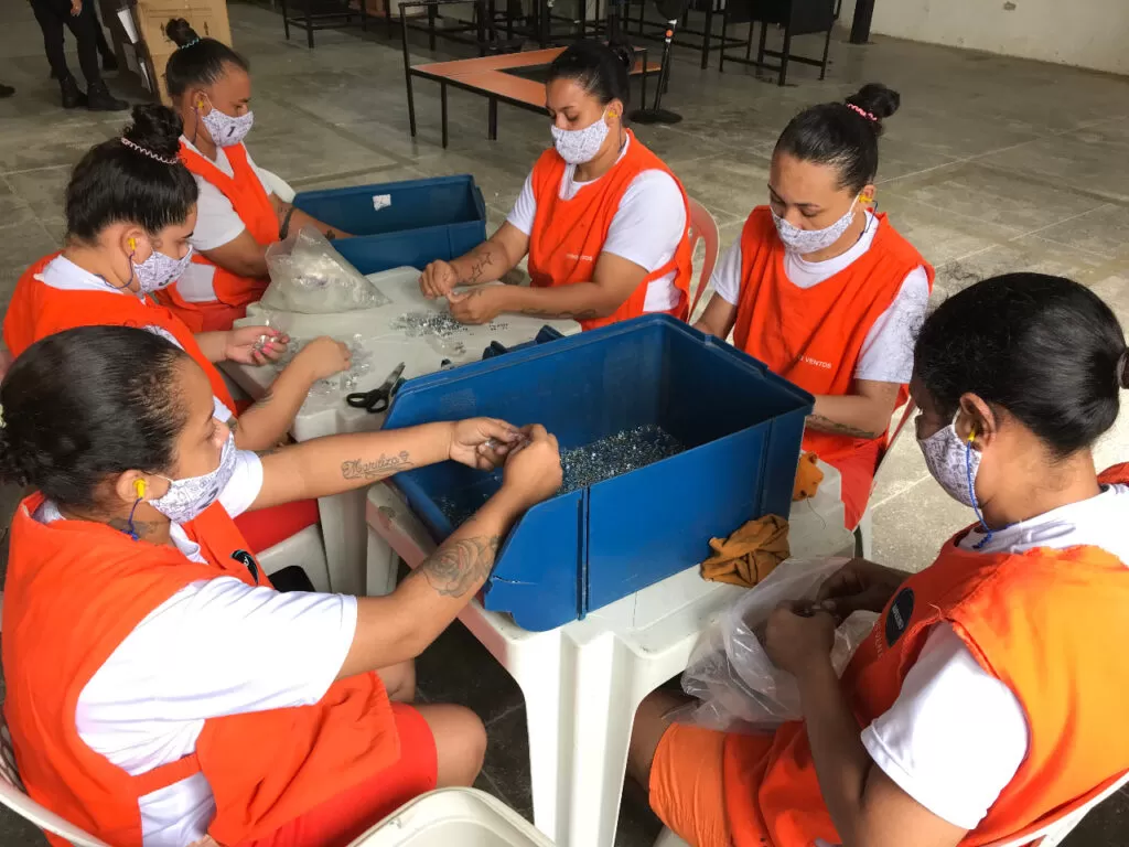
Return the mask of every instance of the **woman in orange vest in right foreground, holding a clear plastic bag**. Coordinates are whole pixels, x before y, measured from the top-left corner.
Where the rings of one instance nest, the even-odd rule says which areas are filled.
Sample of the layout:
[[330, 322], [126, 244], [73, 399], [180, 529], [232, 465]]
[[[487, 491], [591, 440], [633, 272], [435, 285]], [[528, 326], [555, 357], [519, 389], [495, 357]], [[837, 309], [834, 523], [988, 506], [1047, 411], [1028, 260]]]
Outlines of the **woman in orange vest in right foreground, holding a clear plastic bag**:
[[[725, 734], [644, 701], [629, 767], [697, 847], [1018, 840], [1129, 769], [1129, 466], [1099, 475], [1092, 453], [1129, 387], [1121, 326], [1083, 286], [1016, 273], [944, 303], [914, 355], [926, 465], [978, 522], [919, 574], [856, 559], [773, 612], [802, 722]], [[835, 620], [860, 609], [881, 617], [837, 680]]]

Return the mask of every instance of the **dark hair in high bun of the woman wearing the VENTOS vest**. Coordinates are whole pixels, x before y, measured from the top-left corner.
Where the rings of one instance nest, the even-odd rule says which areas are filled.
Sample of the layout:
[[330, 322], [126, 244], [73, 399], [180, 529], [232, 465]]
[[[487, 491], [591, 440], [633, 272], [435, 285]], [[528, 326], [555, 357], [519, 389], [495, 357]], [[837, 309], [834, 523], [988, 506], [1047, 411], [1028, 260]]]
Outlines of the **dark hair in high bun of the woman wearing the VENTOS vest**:
[[900, 103], [898, 91], [870, 82], [842, 103], [805, 108], [784, 128], [776, 149], [802, 161], [832, 165], [840, 187], [861, 191], [878, 173], [882, 122]]

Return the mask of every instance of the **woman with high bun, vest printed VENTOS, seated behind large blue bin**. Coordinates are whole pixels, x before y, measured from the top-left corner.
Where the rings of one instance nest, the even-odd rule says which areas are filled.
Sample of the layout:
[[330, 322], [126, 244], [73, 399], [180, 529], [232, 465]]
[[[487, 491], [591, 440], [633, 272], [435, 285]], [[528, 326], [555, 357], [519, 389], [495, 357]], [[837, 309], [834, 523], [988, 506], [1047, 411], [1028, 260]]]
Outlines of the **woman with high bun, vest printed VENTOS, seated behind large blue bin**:
[[777, 141], [769, 206], [714, 271], [695, 326], [815, 395], [804, 448], [842, 475], [848, 529], [870, 497], [890, 417], [905, 400], [933, 268], [874, 201], [882, 121], [896, 91], [865, 86], [812, 106]]

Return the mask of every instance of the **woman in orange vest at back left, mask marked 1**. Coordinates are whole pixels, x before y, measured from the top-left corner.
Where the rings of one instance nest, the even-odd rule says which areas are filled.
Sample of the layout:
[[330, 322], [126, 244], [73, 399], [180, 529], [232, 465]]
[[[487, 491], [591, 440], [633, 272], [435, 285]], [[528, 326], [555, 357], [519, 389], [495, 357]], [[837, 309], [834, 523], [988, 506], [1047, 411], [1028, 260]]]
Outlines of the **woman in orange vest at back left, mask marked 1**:
[[181, 158], [200, 186], [196, 253], [159, 299], [193, 332], [229, 330], [266, 283], [266, 247], [314, 226], [345, 235], [298, 211], [271, 191], [243, 139], [251, 131], [247, 60], [215, 38], [201, 38], [183, 18], [165, 26], [177, 45], [168, 58], [168, 95], [184, 121]]

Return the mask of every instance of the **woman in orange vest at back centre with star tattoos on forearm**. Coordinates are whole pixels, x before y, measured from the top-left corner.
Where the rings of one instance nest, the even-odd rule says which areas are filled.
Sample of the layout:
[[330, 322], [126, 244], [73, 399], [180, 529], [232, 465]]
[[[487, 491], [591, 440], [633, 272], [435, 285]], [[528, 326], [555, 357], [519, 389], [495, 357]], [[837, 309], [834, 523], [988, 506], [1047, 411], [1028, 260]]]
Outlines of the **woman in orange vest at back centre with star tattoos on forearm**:
[[[505, 312], [571, 317], [585, 330], [653, 312], [686, 317], [689, 201], [671, 169], [623, 125], [634, 53], [581, 41], [553, 60], [546, 150], [489, 241], [420, 278], [463, 323]], [[483, 286], [528, 254], [531, 286]], [[454, 289], [474, 286], [469, 292]]]

